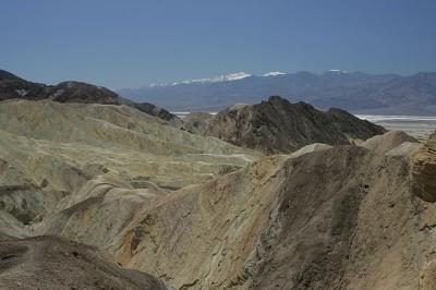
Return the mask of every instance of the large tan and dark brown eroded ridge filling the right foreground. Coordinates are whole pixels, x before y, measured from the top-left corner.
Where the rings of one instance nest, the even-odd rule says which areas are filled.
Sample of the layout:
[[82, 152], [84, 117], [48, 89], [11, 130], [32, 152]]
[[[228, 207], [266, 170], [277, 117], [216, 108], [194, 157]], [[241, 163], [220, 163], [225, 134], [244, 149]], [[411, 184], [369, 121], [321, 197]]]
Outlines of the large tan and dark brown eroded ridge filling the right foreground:
[[[383, 150], [264, 157], [129, 206], [120, 185], [94, 184], [46, 231], [177, 289], [433, 289], [435, 208], [410, 194], [408, 179], [417, 145], [398, 150], [391, 140], [380, 137]], [[122, 217], [110, 215], [120, 204]]]

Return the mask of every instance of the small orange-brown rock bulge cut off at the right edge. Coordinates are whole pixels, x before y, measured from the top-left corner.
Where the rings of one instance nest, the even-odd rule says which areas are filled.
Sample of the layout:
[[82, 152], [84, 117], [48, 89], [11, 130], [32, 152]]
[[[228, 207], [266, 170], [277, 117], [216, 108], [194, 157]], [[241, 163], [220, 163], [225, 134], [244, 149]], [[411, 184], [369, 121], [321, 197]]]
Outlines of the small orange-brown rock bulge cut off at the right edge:
[[436, 133], [413, 155], [412, 191], [420, 198], [436, 202]]

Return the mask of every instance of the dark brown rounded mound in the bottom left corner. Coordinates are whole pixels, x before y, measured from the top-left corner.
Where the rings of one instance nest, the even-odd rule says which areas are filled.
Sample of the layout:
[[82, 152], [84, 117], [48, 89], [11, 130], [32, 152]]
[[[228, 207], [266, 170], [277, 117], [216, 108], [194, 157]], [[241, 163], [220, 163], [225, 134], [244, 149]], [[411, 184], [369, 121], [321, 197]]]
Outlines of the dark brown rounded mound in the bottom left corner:
[[165, 290], [150, 275], [123, 269], [95, 249], [53, 237], [0, 238], [1, 289]]

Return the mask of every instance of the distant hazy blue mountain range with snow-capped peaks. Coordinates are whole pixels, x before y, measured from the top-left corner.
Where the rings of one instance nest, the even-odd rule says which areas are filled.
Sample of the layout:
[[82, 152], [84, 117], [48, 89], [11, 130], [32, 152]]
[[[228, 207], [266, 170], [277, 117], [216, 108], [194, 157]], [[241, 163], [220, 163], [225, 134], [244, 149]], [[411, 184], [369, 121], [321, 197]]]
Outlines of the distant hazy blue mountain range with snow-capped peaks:
[[324, 73], [232, 73], [211, 78], [152, 84], [118, 92], [123, 97], [173, 111], [218, 111], [234, 104], [255, 104], [279, 95], [319, 109], [338, 107], [354, 113], [436, 113], [436, 73], [368, 74], [330, 70]]

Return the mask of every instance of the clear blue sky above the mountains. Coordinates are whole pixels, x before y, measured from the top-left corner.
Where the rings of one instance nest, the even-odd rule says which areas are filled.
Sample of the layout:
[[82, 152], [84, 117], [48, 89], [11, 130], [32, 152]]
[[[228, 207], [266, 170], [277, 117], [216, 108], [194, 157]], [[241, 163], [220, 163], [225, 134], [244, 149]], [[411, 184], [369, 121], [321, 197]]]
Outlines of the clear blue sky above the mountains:
[[45, 83], [436, 70], [435, 0], [2, 0], [0, 31], [0, 68]]

